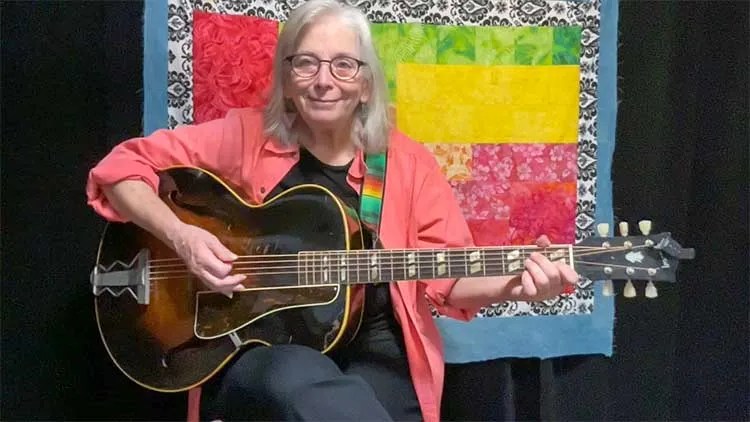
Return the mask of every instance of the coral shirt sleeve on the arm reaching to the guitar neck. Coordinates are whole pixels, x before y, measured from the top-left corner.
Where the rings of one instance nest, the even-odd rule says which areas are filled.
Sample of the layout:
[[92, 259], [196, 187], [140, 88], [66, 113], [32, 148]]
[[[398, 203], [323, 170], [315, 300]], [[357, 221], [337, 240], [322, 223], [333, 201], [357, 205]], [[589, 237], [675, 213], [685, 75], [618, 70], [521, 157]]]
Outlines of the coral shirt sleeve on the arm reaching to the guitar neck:
[[[431, 161], [434, 161], [434, 158]], [[418, 248], [474, 246], [474, 239], [453, 189], [437, 162], [434, 162], [425, 174], [413, 205], [412, 215], [417, 226]], [[468, 321], [480, 308], [464, 309], [451, 306], [447, 299], [456, 281], [458, 280], [455, 278], [424, 281], [427, 298], [440, 314]]]

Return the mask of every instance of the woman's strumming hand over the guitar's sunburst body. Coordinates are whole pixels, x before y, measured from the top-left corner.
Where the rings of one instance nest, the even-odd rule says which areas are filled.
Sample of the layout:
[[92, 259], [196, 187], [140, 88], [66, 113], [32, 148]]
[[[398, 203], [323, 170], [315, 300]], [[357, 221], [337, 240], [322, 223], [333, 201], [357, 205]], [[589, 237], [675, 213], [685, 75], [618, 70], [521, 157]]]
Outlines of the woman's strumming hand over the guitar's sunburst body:
[[237, 255], [210, 232], [191, 224], [180, 223], [167, 237], [190, 272], [211, 290], [231, 298], [232, 292], [245, 288], [240, 283], [247, 276], [231, 274], [232, 263]]

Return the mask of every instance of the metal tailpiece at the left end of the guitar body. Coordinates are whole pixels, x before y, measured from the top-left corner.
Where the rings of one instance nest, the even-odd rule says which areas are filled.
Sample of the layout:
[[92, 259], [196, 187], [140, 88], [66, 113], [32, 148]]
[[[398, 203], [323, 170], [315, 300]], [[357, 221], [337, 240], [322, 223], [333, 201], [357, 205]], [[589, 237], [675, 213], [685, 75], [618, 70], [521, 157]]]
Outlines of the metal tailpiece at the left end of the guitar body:
[[[115, 261], [109, 267], [101, 264], [94, 267], [90, 277], [94, 296], [109, 292], [118, 297], [129, 292], [139, 305], [148, 305], [151, 285], [148, 258], [148, 250], [142, 249], [130, 264]], [[119, 269], [113, 271], [115, 267]]]

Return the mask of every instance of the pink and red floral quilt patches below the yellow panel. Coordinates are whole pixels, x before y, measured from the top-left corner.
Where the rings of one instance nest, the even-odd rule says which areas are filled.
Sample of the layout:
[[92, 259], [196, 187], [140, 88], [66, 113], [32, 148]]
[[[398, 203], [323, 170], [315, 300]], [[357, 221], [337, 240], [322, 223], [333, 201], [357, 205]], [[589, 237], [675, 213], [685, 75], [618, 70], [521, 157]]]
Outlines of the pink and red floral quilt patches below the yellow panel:
[[[471, 178], [452, 180], [474, 241], [575, 241], [576, 145], [473, 145]], [[449, 160], [450, 161], [450, 160]]]

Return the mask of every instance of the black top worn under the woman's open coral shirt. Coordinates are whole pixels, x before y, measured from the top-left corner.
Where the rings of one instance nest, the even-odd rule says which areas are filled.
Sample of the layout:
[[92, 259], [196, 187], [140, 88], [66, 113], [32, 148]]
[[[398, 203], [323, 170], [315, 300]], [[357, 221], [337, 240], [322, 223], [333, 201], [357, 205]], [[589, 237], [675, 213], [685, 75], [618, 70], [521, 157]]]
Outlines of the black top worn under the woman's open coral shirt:
[[[347, 183], [347, 174], [351, 164], [351, 162], [342, 166], [325, 164], [308, 150], [301, 148], [299, 162], [274, 187], [269, 193], [269, 197], [278, 195], [297, 185], [316, 184], [329, 189], [344, 203], [359, 211], [360, 193]], [[364, 319], [357, 338], [359, 340], [377, 339], [378, 342], [387, 340], [389, 343], [390, 340], [400, 339], [400, 329], [398, 329], [393, 315], [388, 283], [368, 285], [365, 289]], [[355, 341], [356, 343], [361, 343], [361, 341]], [[400, 340], [397, 343], [400, 343]], [[399, 352], [401, 348], [388, 347], [387, 349]]]

